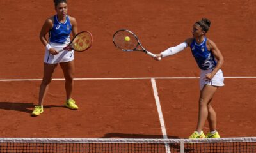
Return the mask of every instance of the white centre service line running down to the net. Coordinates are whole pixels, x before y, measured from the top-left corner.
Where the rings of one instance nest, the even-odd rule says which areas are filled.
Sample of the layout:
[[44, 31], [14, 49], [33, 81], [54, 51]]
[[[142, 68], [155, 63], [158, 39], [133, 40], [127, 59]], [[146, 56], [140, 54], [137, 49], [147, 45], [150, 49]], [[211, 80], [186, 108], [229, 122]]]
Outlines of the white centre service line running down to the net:
[[[158, 92], [157, 92], [156, 80], [154, 78], [152, 78], [151, 83], [152, 83], [152, 87], [153, 87], [153, 91], [154, 91], [154, 97], [155, 97], [155, 100], [156, 100], [156, 107], [157, 107], [159, 121], [160, 121], [161, 129], [162, 129], [163, 138], [168, 139], [165, 124], [164, 124], [164, 117], [163, 117], [163, 113], [162, 113], [162, 108], [161, 108], [161, 105], [160, 105], [160, 100], [159, 100], [159, 96], [158, 96]], [[168, 152], [168, 153], [171, 152], [168, 143], [165, 143], [165, 148], [166, 148], [166, 152]]]

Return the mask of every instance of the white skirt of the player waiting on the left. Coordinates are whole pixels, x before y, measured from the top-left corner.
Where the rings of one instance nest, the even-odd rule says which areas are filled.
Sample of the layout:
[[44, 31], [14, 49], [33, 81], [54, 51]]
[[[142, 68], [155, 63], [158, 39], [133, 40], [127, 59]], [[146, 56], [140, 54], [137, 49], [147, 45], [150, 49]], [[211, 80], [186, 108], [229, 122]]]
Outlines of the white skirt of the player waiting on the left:
[[[66, 47], [67, 44], [58, 44], [58, 43], [50, 43], [52, 48], [56, 50], [61, 50], [62, 48]], [[52, 55], [47, 48], [45, 48], [45, 55], [44, 55], [44, 62], [47, 64], [57, 64], [60, 62], [70, 62], [74, 60], [74, 50], [67, 51], [64, 50], [59, 54]]]

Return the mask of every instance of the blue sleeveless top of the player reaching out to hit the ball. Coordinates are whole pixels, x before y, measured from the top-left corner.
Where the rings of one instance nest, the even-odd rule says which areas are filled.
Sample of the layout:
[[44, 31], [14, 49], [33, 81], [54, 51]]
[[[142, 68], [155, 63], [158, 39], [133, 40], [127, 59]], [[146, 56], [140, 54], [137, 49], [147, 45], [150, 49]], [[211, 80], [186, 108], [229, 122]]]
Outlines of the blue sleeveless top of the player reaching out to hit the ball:
[[206, 41], [207, 38], [205, 37], [204, 41], [198, 45], [194, 39], [190, 45], [191, 52], [195, 57], [196, 63], [202, 70], [214, 69], [217, 64], [214, 55], [206, 47]]

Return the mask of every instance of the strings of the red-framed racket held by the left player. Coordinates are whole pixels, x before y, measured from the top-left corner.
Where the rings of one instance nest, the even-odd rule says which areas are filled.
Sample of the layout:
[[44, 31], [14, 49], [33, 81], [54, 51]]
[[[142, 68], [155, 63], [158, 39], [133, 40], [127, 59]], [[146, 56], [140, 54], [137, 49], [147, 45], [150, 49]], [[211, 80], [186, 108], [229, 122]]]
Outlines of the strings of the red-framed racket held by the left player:
[[92, 36], [90, 33], [79, 33], [72, 41], [72, 47], [76, 51], [83, 51], [92, 45]]

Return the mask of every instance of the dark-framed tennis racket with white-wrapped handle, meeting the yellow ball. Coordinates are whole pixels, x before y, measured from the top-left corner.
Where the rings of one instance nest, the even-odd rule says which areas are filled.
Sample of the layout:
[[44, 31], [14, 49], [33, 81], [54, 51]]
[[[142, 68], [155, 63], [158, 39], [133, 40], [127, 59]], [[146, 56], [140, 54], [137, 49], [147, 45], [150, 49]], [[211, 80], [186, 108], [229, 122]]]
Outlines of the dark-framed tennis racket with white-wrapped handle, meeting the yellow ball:
[[152, 54], [144, 47], [142, 47], [136, 34], [132, 33], [132, 31], [129, 31], [127, 29], [120, 29], [116, 31], [116, 33], [113, 35], [113, 43], [117, 48], [123, 51], [141, 51], [152, 57], [156, 57], [155, 54]]

